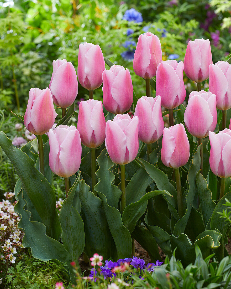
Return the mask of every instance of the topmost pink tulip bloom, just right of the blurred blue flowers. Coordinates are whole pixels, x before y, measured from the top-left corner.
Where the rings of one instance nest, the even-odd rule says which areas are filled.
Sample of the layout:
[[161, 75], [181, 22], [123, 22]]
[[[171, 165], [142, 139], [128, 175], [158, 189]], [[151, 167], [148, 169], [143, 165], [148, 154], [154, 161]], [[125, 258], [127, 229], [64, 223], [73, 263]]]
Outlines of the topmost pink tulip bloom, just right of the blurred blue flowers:
[[161, 42], [151, 32], [141, 34], [135, 49], [133, 68], [135, 74], [151, 79], [156, 75], [157, 66], [162, 61]]

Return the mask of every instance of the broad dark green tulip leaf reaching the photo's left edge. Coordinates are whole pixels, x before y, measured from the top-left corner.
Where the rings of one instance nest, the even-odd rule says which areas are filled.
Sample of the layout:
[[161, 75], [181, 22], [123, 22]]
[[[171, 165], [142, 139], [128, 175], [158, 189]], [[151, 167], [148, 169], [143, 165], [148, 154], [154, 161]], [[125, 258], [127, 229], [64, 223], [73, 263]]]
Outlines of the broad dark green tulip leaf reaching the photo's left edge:
[[0, 146], [14, 165], [23, 184], [23, 189], [27, 192], [46, 226], [46, 234], [59, 240], [61, 228], [60, 225], [54, 225], [58, 223], [58, 214], [55, 192], [52, 186], [34, 167], [34, 161], [21, 149], [14, 147], [12, 141], [2, 131], [0, 131]]

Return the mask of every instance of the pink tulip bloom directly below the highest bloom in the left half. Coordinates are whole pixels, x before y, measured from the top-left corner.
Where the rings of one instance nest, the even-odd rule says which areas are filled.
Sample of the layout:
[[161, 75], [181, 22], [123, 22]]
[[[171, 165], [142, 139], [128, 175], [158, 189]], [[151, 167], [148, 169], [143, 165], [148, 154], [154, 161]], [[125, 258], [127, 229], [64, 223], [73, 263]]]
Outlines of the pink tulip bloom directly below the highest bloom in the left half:
[[81, 101], [77, 124], [81, 142], [90, 148], [100, 146], [105, 140], [105, 127], [102, 101]]

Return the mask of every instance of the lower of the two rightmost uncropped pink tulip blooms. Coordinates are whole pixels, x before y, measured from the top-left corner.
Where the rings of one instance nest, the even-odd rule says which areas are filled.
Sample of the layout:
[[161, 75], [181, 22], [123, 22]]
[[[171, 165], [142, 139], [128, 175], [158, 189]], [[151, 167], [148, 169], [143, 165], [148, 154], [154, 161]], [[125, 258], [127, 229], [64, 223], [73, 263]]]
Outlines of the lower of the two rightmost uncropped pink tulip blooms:
[[191, 92], [184, 121], [192, 136], [197, 138], [208, 136], [208, 132], [214, 131], [217, 125], [216, 95], [204, 90]]

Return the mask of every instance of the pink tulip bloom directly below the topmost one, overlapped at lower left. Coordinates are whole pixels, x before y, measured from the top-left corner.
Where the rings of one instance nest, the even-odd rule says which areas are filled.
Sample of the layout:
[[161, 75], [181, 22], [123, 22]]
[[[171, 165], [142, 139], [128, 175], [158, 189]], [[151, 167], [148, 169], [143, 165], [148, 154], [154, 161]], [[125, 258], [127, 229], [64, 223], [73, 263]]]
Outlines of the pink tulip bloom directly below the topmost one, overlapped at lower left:
[[142, 96], [137, 101], [134, 116], [139, 117], [139, 139], [146, 144], [156, 142], [163, 134], [164, 121], [161, 113], [161, 97]]

